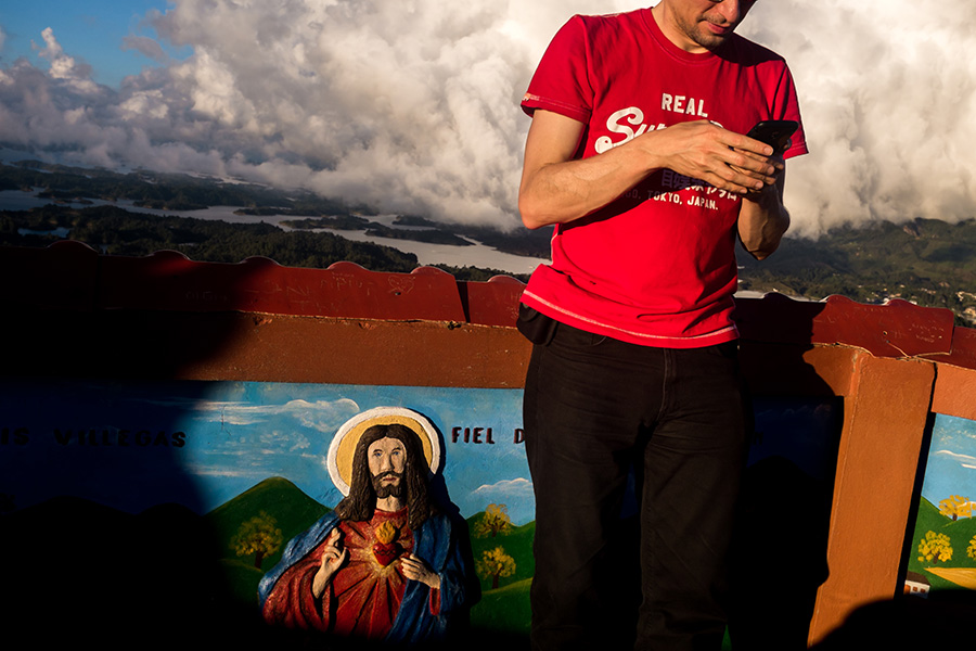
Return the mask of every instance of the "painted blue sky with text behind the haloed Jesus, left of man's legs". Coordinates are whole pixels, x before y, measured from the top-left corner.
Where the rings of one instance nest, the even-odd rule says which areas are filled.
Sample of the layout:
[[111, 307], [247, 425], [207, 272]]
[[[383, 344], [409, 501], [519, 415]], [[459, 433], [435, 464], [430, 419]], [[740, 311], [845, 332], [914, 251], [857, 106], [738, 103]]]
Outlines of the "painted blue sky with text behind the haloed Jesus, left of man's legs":
[[[170, 501], [207, 513], [283, 476], [333, 507], [342, 495], [325, 467], [329, 445], [343, 423], [374, 407], [412, 409], [440, 431], [445, 484], [462, 515], [505, 503], [516, 524], [534, 520], [524, 446], [514, 439], [522, 422], [522, 392], [514, 390], [8, 385], [0, 392], [0, 493], [17, 508], [72, 495], [131, 513]], [[454, 427], [462, 432], [457, 442]], [[481, 443], [465, 443], [464, 427], [483, 427]]]

